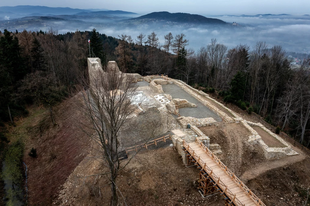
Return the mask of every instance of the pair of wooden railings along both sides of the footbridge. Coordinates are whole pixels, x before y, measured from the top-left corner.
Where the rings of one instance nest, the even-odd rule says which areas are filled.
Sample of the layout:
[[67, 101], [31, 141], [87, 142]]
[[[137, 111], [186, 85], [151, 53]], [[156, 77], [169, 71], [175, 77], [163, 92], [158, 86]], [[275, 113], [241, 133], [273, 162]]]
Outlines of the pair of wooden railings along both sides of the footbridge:
[[[236, 177], [236, 175], [230, 171], [227, 166], [225, 164], [223, 164], [221, 162], [221, 160], [219, 160], [219, 158], [217, 158], [209, 149], [208, 147], [206, 147], [199, 139], [195, 139], [195, 142], [197, 142], [200, 147], [213, 159], [215, 160], [218, 165], [229, 175], [231, 176], [232, 180], [234, 180], [246, 193], [248, 193], [248, 196], [251, 197], [253, 200], [255, 200], [257, 202], [258, 206], [266, 206], [265, 204], [263, 204], [263, 202], [239, 179]], [[206, 165], [206, 163], [200, 159], [200, 156], [195, 154], [195, 151], [192, 150], [188, 143], [186, 143], [184, 141], [183, 143], [185, 149], [192, 153], [192, 156], [195, 158], [195, 160], [197, 161], [197, 163], [200, 164], [200, 166], [202, 167], [202, 169], [204, 169], [209, 176], [211, 176], [211, 178], [216, 182], [217, 185], [221, 186], [222, 188], [224, 188], [223, 192], [225, 192], [225, 194], [229, 197], [229, 199], [231, 199], [230, 203], [234, 203], [236, 206], [245, 206], [244, 204], [241, 203], [241, 201], [236, 197], [235, 194], [232, 193], [232, 191], [229, 190], [228, 186], [226, 186], [221, 180], [220, 178], [213, 173], [213, 171], [208, 167], [208, 165]], [[202, 164], [201, 164], [201, 163]]]

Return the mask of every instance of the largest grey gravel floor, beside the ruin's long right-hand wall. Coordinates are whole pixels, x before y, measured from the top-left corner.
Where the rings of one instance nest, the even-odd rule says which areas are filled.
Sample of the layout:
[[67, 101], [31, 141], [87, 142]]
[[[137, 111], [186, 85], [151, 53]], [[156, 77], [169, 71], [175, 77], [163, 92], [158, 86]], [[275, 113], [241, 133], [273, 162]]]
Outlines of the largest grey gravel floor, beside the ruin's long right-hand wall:
[[202, 105], [200, 101], [195, 99], [192, 95], [188, 94], [182, 88], [175, 84], [162, 85], [162, 89], [165, 94], [170, 94], [173, 99], [186, 99], [190, 103], [194, 103], [197, 107], [184, 107], [179, 108], [181, 116], [191, 116], [195, 118], [207, 118], [212, 117], [216, 121], [222, 121], [217, 114], [212, 112], [208, 107]]

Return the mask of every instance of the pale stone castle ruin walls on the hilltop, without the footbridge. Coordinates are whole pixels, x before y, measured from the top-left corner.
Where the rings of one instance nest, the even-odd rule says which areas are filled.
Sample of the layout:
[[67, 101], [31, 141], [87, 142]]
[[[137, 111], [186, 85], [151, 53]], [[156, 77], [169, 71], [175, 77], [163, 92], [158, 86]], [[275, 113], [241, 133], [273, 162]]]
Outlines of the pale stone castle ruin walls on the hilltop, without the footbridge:
[[[88, 58], [88, 68], [90, 77], [95, 75], [97, 70], [103, 72], [99, 58]], [[108, 62], [107, 70], [122, 73], [115, 61]], [[152, 118], [161, 122], [157, 135], [170, 132], [173, 144], [183, 157], [185, 154], [182, 151], [183, 140], [193, 142], [195, 138], [199, 138], [215, 154], [220, 154], [220, 146], [210, 144], [210, 138], [199, 129], [202, 126], [217, 124], [219, 121], [227, 124], [241, 123], [251, 134], [247, 141], [259, 145], [266, 158], [298, 155], [281, 137], [262, 124], [242, 119], [223, 104], [210, 98], [208, 94], [192, 88], [183, 81], [159, 75], [141, 77], [139, 74], [126, 73], [126, 76], [138, 84], [139, 92], [135, 98], [143, 99], [140, 112], [135, 113], [135, 117], [143, 120], [149, 118], [144, 117], [145, 112], [153, 113]], [[269, 134], [282, 146], [268, 147], [256, 128]], [[184, 157], [184, 162], [185, 159]]]

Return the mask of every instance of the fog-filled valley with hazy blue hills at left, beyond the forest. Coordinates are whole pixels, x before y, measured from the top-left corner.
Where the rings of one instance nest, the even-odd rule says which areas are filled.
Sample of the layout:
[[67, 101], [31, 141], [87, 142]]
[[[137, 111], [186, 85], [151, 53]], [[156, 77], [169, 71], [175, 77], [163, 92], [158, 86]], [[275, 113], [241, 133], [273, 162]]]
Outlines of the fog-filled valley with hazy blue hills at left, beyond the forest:
[[194, 50], [206, 46], [211, 38], [217, 38], [218, 42], [229, 48], [239, 44], [252, 46], [257, 41], [263, 41], [269, 46], [282, 45], [287, 51], [310, 52], [310, 15], [205, 15], [205, 17], [226, 22], [226, 24], [219, 24], [219, 22], [197, 22], [194, 18], [183, 22], [178, 18], [162, 19], [160, 16], [157, 18], [157, 13], [152, 15], [152, 18], [145, 16], [146, 18], [135, 20], [132, 18], [141, 15], [106, 9], [103, 11], [61, 8], [60, 10], [47, 7], [42, 10], [41, 7], [28, 6], [29, 11], [19, 8], [20, 10], [16, 9], [15, 12], [19, 12], [16, 14], [13, 13], [14, 8], [0, 7], [2, 32], [4, 29], [47, 31], [53, 28], [59, 33], [67, 33], [76, 30], [91, 31], [92, 28], [96, 28], [98, 32], [108, 36], [118, 37], [126, 34], [135, 39], [139, 33], [150, 34], [155, 31], [162, 44], [164, 35], [171, 32], [173, 35], [184, 33], [189, 40], [188, 48]]

